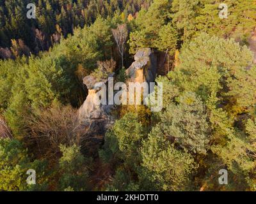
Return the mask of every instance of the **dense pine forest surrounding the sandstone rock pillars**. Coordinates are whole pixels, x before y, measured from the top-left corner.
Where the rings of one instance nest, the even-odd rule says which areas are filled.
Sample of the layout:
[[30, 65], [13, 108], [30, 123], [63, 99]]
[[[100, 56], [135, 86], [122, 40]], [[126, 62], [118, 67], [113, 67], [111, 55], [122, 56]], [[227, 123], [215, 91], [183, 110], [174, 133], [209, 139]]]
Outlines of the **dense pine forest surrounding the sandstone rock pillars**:
[[[0, 0], [0, 191], [256, 191], [255, 14], [255, 0]], [[163, 109], [85, 123], [84, 78], [128, 83], [146, 48]]]

